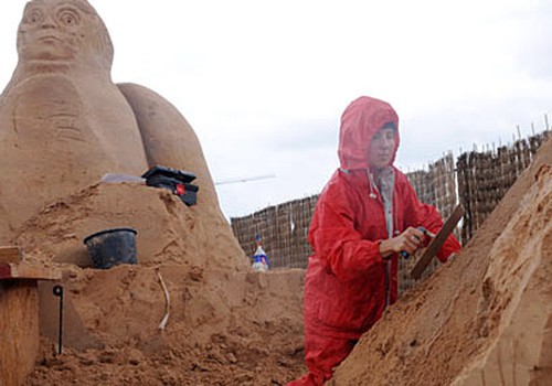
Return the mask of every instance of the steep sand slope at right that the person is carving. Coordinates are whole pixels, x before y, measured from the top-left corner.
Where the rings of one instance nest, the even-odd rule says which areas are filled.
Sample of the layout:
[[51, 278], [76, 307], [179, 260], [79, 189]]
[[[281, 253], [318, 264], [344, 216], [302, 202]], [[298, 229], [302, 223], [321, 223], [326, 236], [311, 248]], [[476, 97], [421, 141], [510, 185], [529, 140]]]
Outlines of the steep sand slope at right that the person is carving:
[[333, 385], [550, 385], [552, 140], [453, 264], [362, 336]]

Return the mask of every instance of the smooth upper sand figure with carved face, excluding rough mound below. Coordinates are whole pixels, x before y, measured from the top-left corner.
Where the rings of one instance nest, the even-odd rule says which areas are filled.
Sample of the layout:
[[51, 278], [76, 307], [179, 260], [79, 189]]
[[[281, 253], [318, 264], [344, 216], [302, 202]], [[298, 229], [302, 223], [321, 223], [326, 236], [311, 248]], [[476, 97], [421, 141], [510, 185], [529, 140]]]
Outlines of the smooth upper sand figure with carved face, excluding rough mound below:
[[34, 0], [18, 31], [19, 62], [0, 96], [0, 240], [44, 204], [106, 173], [162, 164], [197, 174], [219, 210], [201, 146], [156, 93], [110, 77], [113, 45], [86, 0]]

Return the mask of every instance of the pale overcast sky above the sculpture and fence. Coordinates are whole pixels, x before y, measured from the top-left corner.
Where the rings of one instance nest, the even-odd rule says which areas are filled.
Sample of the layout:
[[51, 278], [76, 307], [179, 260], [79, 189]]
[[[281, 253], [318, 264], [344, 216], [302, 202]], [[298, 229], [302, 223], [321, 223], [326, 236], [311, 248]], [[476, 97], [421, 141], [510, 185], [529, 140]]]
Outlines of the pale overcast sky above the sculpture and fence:
[[[25, 2], [0, 2], [0, 89]], [[397, 110], [403, 171], [552, 124], [551, 0], [89, 2], [114, 42], [114, 82], [182, 112], [227, 217], [319, 193], [360, 95]]]

